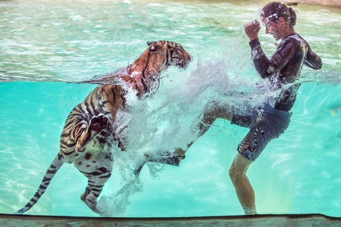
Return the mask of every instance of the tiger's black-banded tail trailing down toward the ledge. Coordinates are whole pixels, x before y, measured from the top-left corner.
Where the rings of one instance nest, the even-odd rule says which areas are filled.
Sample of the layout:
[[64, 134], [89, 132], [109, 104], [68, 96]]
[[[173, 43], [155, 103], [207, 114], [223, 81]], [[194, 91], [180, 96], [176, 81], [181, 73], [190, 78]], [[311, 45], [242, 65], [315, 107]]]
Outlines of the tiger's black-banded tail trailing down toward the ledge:
[[42, 179], [40, 186], [38, 190], [36, 191], [36, 193], [34, 194], [34, 196], [32, 197], [32, 199], [23, 208], [18, 210], [15, 214], [25, 213], [27, 210], [31, 209], [31, 207], [34, 204], [36, 204], [36, 202], [38, 202], [39, 198], [42, 196], [42, 194], [44, 194], [47, 186], [50, 184], [52, 178], [55, 176], [55, 174], [57, 173], [57, 171], [63, 164], [64, 164], [63, 156], [58, 153], [55, 160], [53, 160], [50, 167], [48, 167], [44, 175], [44, 178]]

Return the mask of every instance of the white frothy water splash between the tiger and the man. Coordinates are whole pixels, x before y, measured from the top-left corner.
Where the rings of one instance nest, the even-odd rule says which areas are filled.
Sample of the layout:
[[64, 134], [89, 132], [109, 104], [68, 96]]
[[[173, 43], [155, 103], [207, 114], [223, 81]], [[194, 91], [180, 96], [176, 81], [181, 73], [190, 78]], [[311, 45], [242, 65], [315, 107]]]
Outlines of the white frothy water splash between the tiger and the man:
[[[266, 82], [255, 83], [257, 76], [249, 58], [237, 55], [234, 48], [225, 55], [222, 59], [199, 53], [187, 70], [168, 69], [161, 75], [160, 86], [152, 97], [137, 99], [135, 93], [129, 92], [127, 108], [118, 113], [116, 125], [117, 136], [124, 138], [121, 142], [127, 151], [113, 150], [114, 171], [123, 178], [122, 188], [101, 197], [99, 207], [103, 215], [122, 216], [129, 197], [142, 191], [133, 169], [143, 161], [145, 153], [158, 155], [177, 147], [186, 149], [188, 143], [196, 140], [196, 126], [208, 103], [218, 101], [244, 112], [276, 95]], [[163, 169], [155, 163], [147, 166], [153, 177]]]

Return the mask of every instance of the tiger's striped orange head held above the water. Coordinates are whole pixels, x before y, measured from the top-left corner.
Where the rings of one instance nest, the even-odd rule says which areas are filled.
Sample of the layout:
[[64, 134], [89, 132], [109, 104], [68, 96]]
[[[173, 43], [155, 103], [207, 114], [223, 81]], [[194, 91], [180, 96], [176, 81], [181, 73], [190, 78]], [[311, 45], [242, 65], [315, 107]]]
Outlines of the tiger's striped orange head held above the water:
[[163, 69], [166, 69], [169, 66], [177, 66], [185, 69], [188, 63], [192, 60], [191, 55], [189, 55], [189, 53], [187, 53], [179, 43], [161, 40], [156, 42], [147, 42], [147, 44], [149, 46], [151, 57], [157, 61], [161, 60], [161, 68]]

